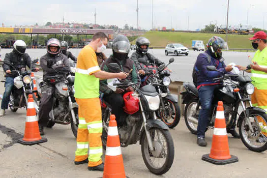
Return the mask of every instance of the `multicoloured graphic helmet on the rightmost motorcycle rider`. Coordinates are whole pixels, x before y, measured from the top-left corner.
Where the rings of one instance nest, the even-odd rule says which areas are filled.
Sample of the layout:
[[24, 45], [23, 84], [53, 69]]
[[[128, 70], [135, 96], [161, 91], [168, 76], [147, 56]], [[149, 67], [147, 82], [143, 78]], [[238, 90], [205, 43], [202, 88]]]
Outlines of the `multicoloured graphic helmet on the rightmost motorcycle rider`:
[[222, 52], [219, 52], [218, 49], [228, 50], [227, 43], [221, 37], [217, 37], [217, 36], [212, 37], [207, 42], [206, 46], [207, 46], [207, 49], [209, 49], [212, 56], [217, 59], [220, 59], [222, 57]]

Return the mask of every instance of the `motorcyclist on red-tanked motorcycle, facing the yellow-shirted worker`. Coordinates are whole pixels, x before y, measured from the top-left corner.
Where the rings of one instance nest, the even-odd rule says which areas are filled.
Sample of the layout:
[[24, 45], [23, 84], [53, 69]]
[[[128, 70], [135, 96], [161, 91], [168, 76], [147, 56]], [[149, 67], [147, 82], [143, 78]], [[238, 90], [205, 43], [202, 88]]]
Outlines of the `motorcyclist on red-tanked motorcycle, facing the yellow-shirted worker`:
[[[101, 70], [106, 72], [120, 72], [120, 71], [110, 71], [108, 64], [117, 63], [121, 66], [121, 69], [129, 73], [131, 69], [132, 72], [128, 75], [126, 80], [136, 83], [137, 86], [140, 86], [140, 78], [137, 73], [137, 69], [134, 65], [134, 62], [128, 57], [130, 52], [130, 42], [126, 36], [118, 35], [112, 43], [112, 55], [104, 61]], [[123, 81], [122, 81], [123, 82]], [[116, 87], [115, 91], [112, 91], [111, 88], [107, 85], [107, 80], [100, 81], [100, 91], [104, 93], [103, 99], [111, 104], [112, 114], [115, 114], [118, 127], [124, 124], [124, 99], [123, 94], [126, 92], [134, 91], [132, 86], [127, 88]]]

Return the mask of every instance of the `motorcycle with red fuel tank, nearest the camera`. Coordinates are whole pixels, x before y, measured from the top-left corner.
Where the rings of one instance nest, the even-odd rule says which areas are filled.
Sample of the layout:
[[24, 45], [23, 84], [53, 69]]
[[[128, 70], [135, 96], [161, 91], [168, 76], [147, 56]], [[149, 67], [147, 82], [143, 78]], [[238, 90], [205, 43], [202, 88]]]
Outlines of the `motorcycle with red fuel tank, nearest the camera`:
[[[109, 64], [112, 71], [121, 70], [117, 64]], [[164, 68], [163, 68], [164, 69]], [[132, 100], [125, 102], [124, 111], [127, 114], [125, 124], [118, 129], [121, 146], [126, 147], [140, 141], [141, 152], [146, 167], [154, 174], [166, 173], [174, 159], [174, 145], [169, 128], [157, 119], [156, 110], [159, 109], [160, 98], [156, 88], [145, 85], [138, 89], [132, 82], [113, 83], [113, 86], [132, 86], [135, 92], [128, 92]], [[102, 103], [103, 148], [106, 147], [109, 116], [111, 107], [108, 103]]]

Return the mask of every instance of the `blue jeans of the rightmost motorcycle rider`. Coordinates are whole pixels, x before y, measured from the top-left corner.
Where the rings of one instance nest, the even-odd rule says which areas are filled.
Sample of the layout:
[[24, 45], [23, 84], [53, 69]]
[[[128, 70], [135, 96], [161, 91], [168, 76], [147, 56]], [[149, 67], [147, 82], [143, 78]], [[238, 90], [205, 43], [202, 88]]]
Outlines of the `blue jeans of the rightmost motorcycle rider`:
[[197, 137], [205, 137], [205, 130], [211, 117], [213, 92], [216, 87], [217, 85], [206, 85], [198, 88], [201, 110], [198, 116]]

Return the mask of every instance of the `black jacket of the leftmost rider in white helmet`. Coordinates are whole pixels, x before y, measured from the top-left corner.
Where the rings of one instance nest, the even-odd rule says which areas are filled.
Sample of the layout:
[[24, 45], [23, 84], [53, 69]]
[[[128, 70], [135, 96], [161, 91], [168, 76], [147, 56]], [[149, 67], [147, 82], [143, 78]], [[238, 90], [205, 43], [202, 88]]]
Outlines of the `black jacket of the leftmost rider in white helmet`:
[[[13, 50], [10, 53], [7, 53], [5, 58], [4, 58], [4, 61], [9, 61], [10, 64], [13, 66], [13, 67], [11, 67], [9, 65], [3, 64], [3, 69], [4, 69], [5, 72], [7, 70], [11, 70], [11, 71], [18, 70], [18, 71], [21, 71], [21, 68], [26, 68], [26, 66], [28, 68], [31, 68], [31, 63], [32, 63], [31, 57], [29, 57], [29, 55], [27, 53], [19, 54], [15, 50]], [[32, 66], [32, 69], [33, 68], [35, 68], [35, 65]], [[6, 74], [6, 77], [13, 77], [14, 78], [16, 76], [13, 76], [10, 73], [10, 74]]]

